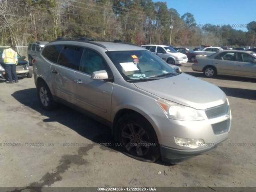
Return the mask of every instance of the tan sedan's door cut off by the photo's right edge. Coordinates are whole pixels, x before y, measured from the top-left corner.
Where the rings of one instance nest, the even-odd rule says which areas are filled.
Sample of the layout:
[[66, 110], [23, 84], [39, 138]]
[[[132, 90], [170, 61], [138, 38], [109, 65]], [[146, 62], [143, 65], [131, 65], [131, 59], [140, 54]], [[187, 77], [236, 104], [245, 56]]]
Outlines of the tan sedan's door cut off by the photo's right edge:
[[254, 57], [248, 53], [237, 53], [234, 74], [239, 76], [256, 77], [256, 63]]

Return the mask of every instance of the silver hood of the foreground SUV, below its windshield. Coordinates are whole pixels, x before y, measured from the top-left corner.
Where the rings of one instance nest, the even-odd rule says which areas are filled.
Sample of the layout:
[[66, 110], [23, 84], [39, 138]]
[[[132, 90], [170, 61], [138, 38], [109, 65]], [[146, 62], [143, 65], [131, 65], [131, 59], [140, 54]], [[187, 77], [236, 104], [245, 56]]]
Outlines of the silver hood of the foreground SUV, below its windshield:
[[134, 85], [160, 98], [200, 110], [221, 105], [226, 101], [226, 94], [220, 88], [184, 73], [159, 80], [137, 82]]

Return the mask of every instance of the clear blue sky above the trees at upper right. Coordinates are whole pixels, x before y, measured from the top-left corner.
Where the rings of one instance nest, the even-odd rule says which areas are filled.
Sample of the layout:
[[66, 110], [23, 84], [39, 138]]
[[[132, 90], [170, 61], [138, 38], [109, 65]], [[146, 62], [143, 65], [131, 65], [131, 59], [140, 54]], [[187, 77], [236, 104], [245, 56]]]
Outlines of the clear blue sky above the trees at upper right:
[[158, 1], [167, 2], [168, 8], [176, 9], [180, 16], [193, 14], [198, 26], [229, 24], [236, 30], [248, 31], [244, 26], [256, 21], [256, 0], [154, 0]]

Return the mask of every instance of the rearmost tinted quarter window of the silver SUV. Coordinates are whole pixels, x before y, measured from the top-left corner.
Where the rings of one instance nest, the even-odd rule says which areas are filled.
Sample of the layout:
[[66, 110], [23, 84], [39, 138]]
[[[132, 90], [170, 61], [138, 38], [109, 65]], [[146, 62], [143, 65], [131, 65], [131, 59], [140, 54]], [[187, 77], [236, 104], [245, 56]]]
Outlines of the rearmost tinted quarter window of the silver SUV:
[[42, 51], [42, 55], [49, 61], [57, 63], [61, 47], [62, 45], [46, 46]]

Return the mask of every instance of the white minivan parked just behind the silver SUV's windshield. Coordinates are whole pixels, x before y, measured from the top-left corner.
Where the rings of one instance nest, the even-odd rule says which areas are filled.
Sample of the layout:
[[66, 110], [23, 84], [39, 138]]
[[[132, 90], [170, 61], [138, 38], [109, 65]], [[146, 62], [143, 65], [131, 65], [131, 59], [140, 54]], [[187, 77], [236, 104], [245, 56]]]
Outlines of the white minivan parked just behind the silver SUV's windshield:
[[185, 54], [179, 53], [174, 48], [166, 45], [142, 45], [143, 48], [150, 50], [168, 64], [180, 65], [188, 62]]

